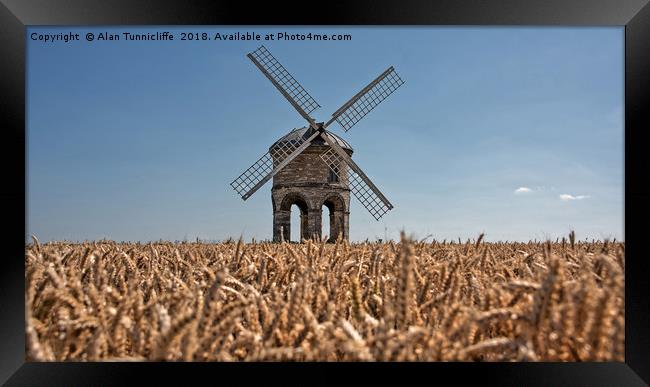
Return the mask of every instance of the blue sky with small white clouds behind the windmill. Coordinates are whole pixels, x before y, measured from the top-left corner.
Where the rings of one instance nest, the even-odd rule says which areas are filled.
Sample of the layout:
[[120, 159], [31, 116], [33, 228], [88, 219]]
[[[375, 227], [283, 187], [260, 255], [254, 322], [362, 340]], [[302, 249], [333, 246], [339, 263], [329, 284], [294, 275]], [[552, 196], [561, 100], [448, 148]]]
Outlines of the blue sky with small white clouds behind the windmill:
[[[32, 41], [32, 32], [82, 41]], [[169, 41], [86, 32], [170, 31]], [[180, 41], [180, 32], [347, 33], [351, 41]], [[623, 239], [624, 30], [30, 28], [27, 236], [222, 240], [272, 233], [267, 183], [229, 183], [305, 124], [245, 54], [264, 44], [327, 120], [388, 66], [405, 84], [345, 133], [395, 208], [352, 199], [350, 236]]]

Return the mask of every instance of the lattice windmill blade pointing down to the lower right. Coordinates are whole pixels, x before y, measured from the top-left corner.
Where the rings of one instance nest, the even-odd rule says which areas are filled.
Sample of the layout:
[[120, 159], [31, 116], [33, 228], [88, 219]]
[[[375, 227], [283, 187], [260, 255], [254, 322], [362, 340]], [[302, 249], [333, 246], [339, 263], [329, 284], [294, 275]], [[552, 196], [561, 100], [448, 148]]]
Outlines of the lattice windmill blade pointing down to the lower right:
[[[359, 166], [352, 161], [350, 156], [345, 153], [336, 142], [331, 140], [327, 132], [323, 131], [321, 134], [327, 144], [330, 146], [328, 150], [323, 152], [320, 157], [330, 167], [330, 169], [337, 175], [339, 180], [347, 182], [350, 186], [352, 194], [359, 199], [361, 204], [366, 207], [366, 210], [375, 218], [379, 220], [388, 211], [393, 209], [393, 205], [381, 193], [372, 181], [366, 176]], [[350, 168], [347, 169], [347, 176], [341, 176], [343, 173], [343, 163], [347, 164]]]

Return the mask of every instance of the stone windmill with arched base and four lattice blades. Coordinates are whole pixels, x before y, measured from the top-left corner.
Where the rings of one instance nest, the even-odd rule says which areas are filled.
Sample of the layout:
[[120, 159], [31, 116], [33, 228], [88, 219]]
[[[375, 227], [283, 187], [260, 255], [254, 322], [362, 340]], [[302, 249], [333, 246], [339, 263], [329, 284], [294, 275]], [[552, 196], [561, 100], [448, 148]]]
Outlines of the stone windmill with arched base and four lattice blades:
[[320, 238], [326, 206], [330, 241], [349, 237], [350, 192], [376, 220], [390, 211], [393, 205], [352, 160], [352, 147], [327, 128], [336, 121], [347, 132], [397, 90], [404, 81], [395, 69], [386, 69], [327, 122], [316, 122], [310, 113], [320, 105], [264, 46], [247, 57], [309, 124], [280, 138], [230, 183], [246, 200], [273, 178], [273, 240], [290, 239], [292, 205], [300, 209], [302, 239]]

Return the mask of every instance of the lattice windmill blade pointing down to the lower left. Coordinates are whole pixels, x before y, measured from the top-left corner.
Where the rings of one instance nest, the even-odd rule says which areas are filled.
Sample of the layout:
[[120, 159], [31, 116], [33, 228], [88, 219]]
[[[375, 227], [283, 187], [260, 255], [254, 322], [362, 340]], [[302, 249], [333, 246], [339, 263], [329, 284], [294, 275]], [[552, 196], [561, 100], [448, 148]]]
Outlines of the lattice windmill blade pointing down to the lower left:
[[296, 158], [318, 137], [318, 132], [307, 131], [302, 138], [283, 141], [262, 155], [253, 165], [230, 183], [242, 199], [246, 200], [276, 173]]

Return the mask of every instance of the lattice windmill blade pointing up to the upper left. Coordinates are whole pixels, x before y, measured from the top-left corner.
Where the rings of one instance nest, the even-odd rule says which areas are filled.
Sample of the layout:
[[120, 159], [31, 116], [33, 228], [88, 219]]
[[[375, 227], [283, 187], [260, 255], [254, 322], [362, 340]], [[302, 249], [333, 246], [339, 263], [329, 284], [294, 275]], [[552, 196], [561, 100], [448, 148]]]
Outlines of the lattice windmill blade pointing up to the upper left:
[[320, 105], [312, 98], [311, 95], [302, 87], [296, 79], [278, 62], [273, 55], [264, 46], [246, 55], [262, 74], [266, 76], [273, 86], [280, 91], [284, 98], [289, 101], [291, 106], [306, 119], [309, 124], [316, 129], [316, 124], [309, 113], [318, 109]]

